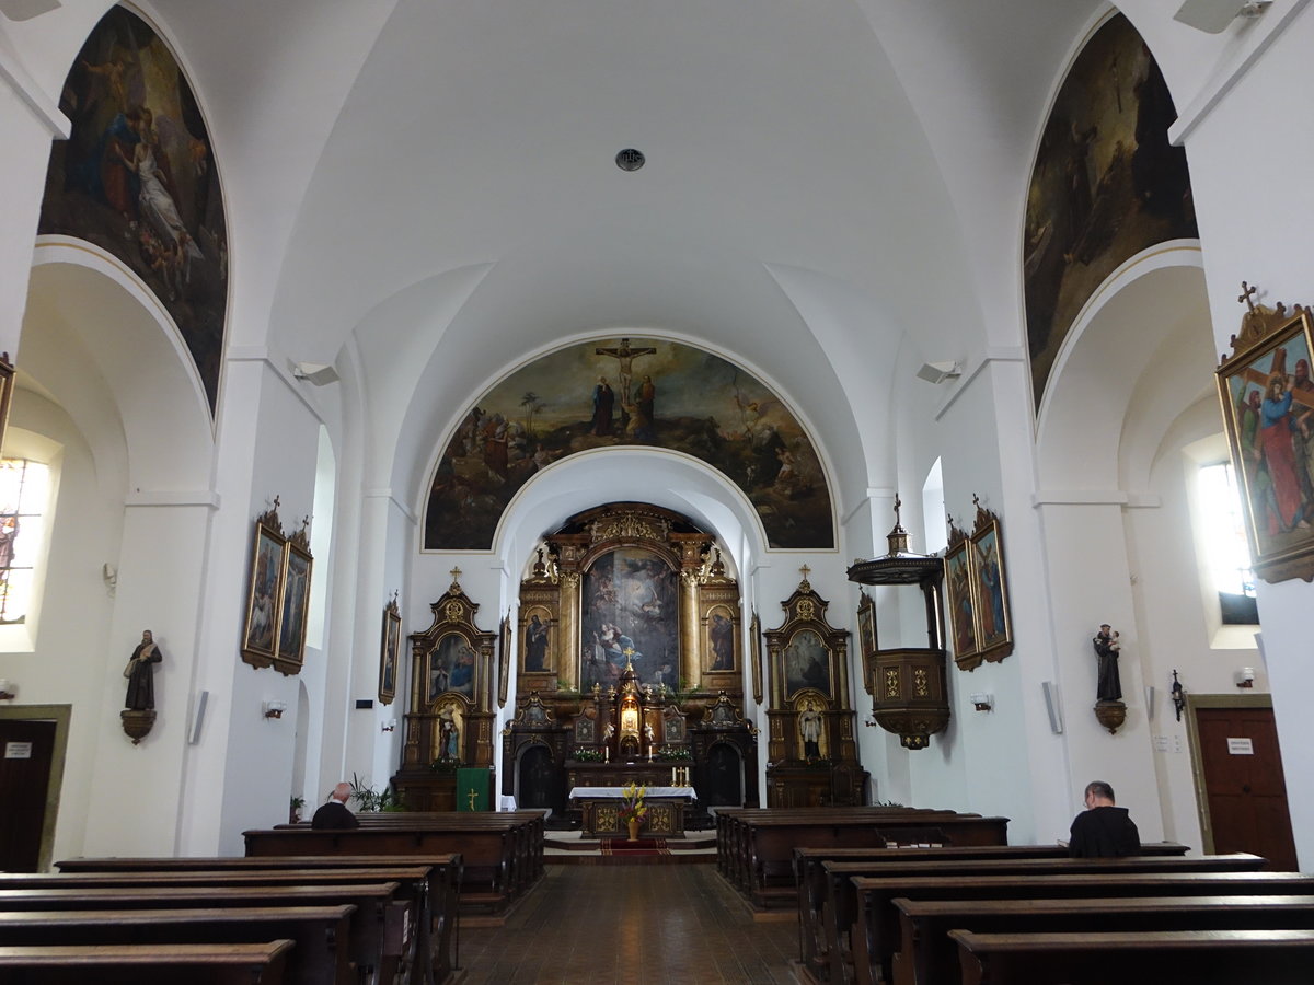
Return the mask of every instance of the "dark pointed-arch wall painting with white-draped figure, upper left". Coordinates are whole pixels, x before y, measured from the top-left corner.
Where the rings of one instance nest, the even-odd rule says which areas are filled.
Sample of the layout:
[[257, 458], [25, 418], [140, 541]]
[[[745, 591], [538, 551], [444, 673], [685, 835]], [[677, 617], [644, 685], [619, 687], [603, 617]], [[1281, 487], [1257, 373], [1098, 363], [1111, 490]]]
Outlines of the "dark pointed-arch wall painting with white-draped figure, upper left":
[[223, 196], [201, 110], [164, 41], [110, 8], [74, 59], [59, 100], [42, 234], [117, 256], [168, 310], [214, 412], [227, 306]]

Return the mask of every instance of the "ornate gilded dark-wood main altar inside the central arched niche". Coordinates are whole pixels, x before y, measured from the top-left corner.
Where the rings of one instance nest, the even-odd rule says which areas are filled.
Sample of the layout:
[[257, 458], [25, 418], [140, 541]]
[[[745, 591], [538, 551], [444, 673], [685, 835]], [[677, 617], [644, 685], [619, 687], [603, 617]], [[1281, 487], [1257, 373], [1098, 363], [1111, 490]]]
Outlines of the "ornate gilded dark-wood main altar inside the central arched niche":
[[757, 806], [741, 621], [715, 537], [685, 516], [619, 503], [548, 533], [520, 583], [502, 795], [591, 834], [624, 831], [614, 791], [629, 783], [654, 834]]

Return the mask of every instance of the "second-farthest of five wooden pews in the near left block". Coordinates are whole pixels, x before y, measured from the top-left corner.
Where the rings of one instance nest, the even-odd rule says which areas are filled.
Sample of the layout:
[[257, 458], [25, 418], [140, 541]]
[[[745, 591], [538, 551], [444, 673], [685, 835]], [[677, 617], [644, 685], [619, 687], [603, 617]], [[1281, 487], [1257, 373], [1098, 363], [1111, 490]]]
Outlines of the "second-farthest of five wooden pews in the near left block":
[[[434, 918], [430, 908], [430, 877], [432, 865], [382, 865], [385, 859], [374, 858], [376, 868], [248, 868], [248, 869], [188, 869], [159, 872], [155, 869], [131, 872], [62, 872], [59, 875], [0, 875], [0, 889], [5, 888], [95, 888], [95, 886], [289, 886], [322, 884], [377, 884], [397, 883], [397, 898], [407, 901], [415, 914], [415, 952], [428, 955], [434, 964]], [[280, 935], [289, 936], [289, 935]], [[422, 963], [411, 968], [414, 985], [443, 981], [449, 965], [432, 973], [423, 973]], [[435, 978], [435, 974], [438, 976]]]

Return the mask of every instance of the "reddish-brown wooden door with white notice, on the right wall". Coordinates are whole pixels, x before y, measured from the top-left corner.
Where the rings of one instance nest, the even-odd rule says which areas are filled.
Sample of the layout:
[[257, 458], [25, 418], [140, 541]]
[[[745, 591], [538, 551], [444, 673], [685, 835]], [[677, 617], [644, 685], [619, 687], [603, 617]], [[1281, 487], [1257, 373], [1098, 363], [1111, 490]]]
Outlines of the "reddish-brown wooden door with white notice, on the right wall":
[[1297, 871], [1273, 709], [1197, 708], [1196, 734], [1214, 851], [1248, 851]]

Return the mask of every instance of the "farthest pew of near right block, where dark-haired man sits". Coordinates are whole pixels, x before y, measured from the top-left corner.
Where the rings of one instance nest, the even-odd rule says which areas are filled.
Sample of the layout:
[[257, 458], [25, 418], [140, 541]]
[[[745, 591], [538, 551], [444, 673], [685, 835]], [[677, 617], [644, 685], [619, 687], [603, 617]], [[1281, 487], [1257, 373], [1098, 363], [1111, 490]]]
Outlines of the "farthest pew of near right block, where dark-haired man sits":
[[[1151, 858], [1184, 856], [1185, 844], [1175, 842], [1151, 842], [1142, 846], [1142, 855]], [[895, 862], [954, 862], [970, 859], [1066, 859], [1067, 848], [1059, 844], [982, 844], [968, 847], [945, 846], [941, 848], [795, 848], [794, 881], [798, 885], [799, 906], [799, 953], [800, 961], [813, 977], [827, 980], [830, 976], [830, 936], [827, 927], [832, 926], [827, 904], [828, 880], [824, 869], [827, 862], [872, 863], [876, 865]], [[865, 873], [869, 875], [869, 873]], [[851, 900], [851, 896], [849, 897]], [[846, 930], [850, 918], [844, 923]]]

